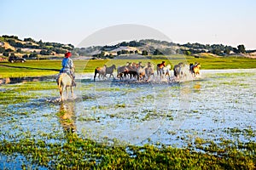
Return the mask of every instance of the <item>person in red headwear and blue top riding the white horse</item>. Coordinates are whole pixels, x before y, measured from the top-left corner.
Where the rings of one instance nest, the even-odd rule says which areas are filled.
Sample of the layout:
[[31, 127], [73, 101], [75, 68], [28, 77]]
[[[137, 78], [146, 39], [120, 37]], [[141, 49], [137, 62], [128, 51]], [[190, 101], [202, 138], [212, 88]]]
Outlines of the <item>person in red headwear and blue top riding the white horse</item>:
[[62, 59], [62, 68], [60, 73], [67, 73], [68, 76], [71, 77], [72, 79], [72, 85], [76, 86], [76, 82], [74, 82], [75, 76], [74, 76], [74, 65], [73, 65], [73, 60], [70, 59], [72, 54], [70, 52], [67, 52], [65, 54], [65, 58]]

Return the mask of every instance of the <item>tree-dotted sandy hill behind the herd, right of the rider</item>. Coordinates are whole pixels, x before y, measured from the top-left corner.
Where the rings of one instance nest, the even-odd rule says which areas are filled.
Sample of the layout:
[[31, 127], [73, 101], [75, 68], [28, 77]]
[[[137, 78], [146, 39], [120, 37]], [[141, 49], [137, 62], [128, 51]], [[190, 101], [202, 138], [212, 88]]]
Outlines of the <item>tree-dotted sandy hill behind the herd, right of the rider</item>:
[[[79, 55], [90, 55], [95, 58], [115, 58], [120, 55], [140, 54], [140, 55], [170, 55], [170, 54], [186, 54], [195, 55], [195, 57], [205, 57], [207, 55], [221, 56], [242, 56], [254, 57], [255, 51], [246, 51], [244, 45], [237, 48], [223, 45], [212, 44], [204, 45], [201, 43], [178, 44], [174, 42], [159, 41], [154, 39], [146, 39], [140, 41], [120, 42], [112, 46], [96, 46], [90, 48], [75, 48]], [[135, 56], [135, 55], [133, 55]]]

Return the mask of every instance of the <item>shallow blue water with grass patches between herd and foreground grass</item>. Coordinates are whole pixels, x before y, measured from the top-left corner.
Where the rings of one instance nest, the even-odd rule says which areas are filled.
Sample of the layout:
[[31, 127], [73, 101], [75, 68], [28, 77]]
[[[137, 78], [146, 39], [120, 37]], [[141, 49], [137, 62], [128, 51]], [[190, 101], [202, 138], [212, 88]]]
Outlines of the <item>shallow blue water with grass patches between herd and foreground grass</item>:
[[245, 130], [256, 130], [256, 70], [202, 71], [189, 82], [77, 82], [75, 99], [63, 103], [57, 90], [38, 90], [37, 99], [1, 105], [0, 140], [63, 142], [67, 130], [108, 144], [256, 140]]

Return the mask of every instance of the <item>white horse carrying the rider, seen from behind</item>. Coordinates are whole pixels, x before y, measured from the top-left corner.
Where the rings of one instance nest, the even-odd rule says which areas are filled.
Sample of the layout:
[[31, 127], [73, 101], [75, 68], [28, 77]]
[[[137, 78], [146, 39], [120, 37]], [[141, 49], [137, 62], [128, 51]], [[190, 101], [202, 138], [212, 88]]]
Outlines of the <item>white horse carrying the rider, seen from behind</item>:
[[73, 86], [72, 86], [72, 79], [67, 73], [61, 73], [59, 77], [57, 78], [57, 84], [60, 89], [60, 94], [61, 94], [61, 101], [64, 100], [64, 95], [63, 92], [66, 90], [66, 94], [68, 97], [68, 88], [70, 88], [72, 97], [73, 97]]

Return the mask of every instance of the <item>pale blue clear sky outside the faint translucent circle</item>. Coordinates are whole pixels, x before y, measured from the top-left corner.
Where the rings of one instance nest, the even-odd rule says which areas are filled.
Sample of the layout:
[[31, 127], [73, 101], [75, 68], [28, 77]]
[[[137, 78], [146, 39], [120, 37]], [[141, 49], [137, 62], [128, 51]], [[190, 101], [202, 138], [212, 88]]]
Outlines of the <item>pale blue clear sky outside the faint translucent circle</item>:
[[20, 39], [77, 47], [97, 31], [128, 24], [148, 26], [177, 43], [256, 49], [255, 0], [0, 0], [0, 8], [0, 35]]

